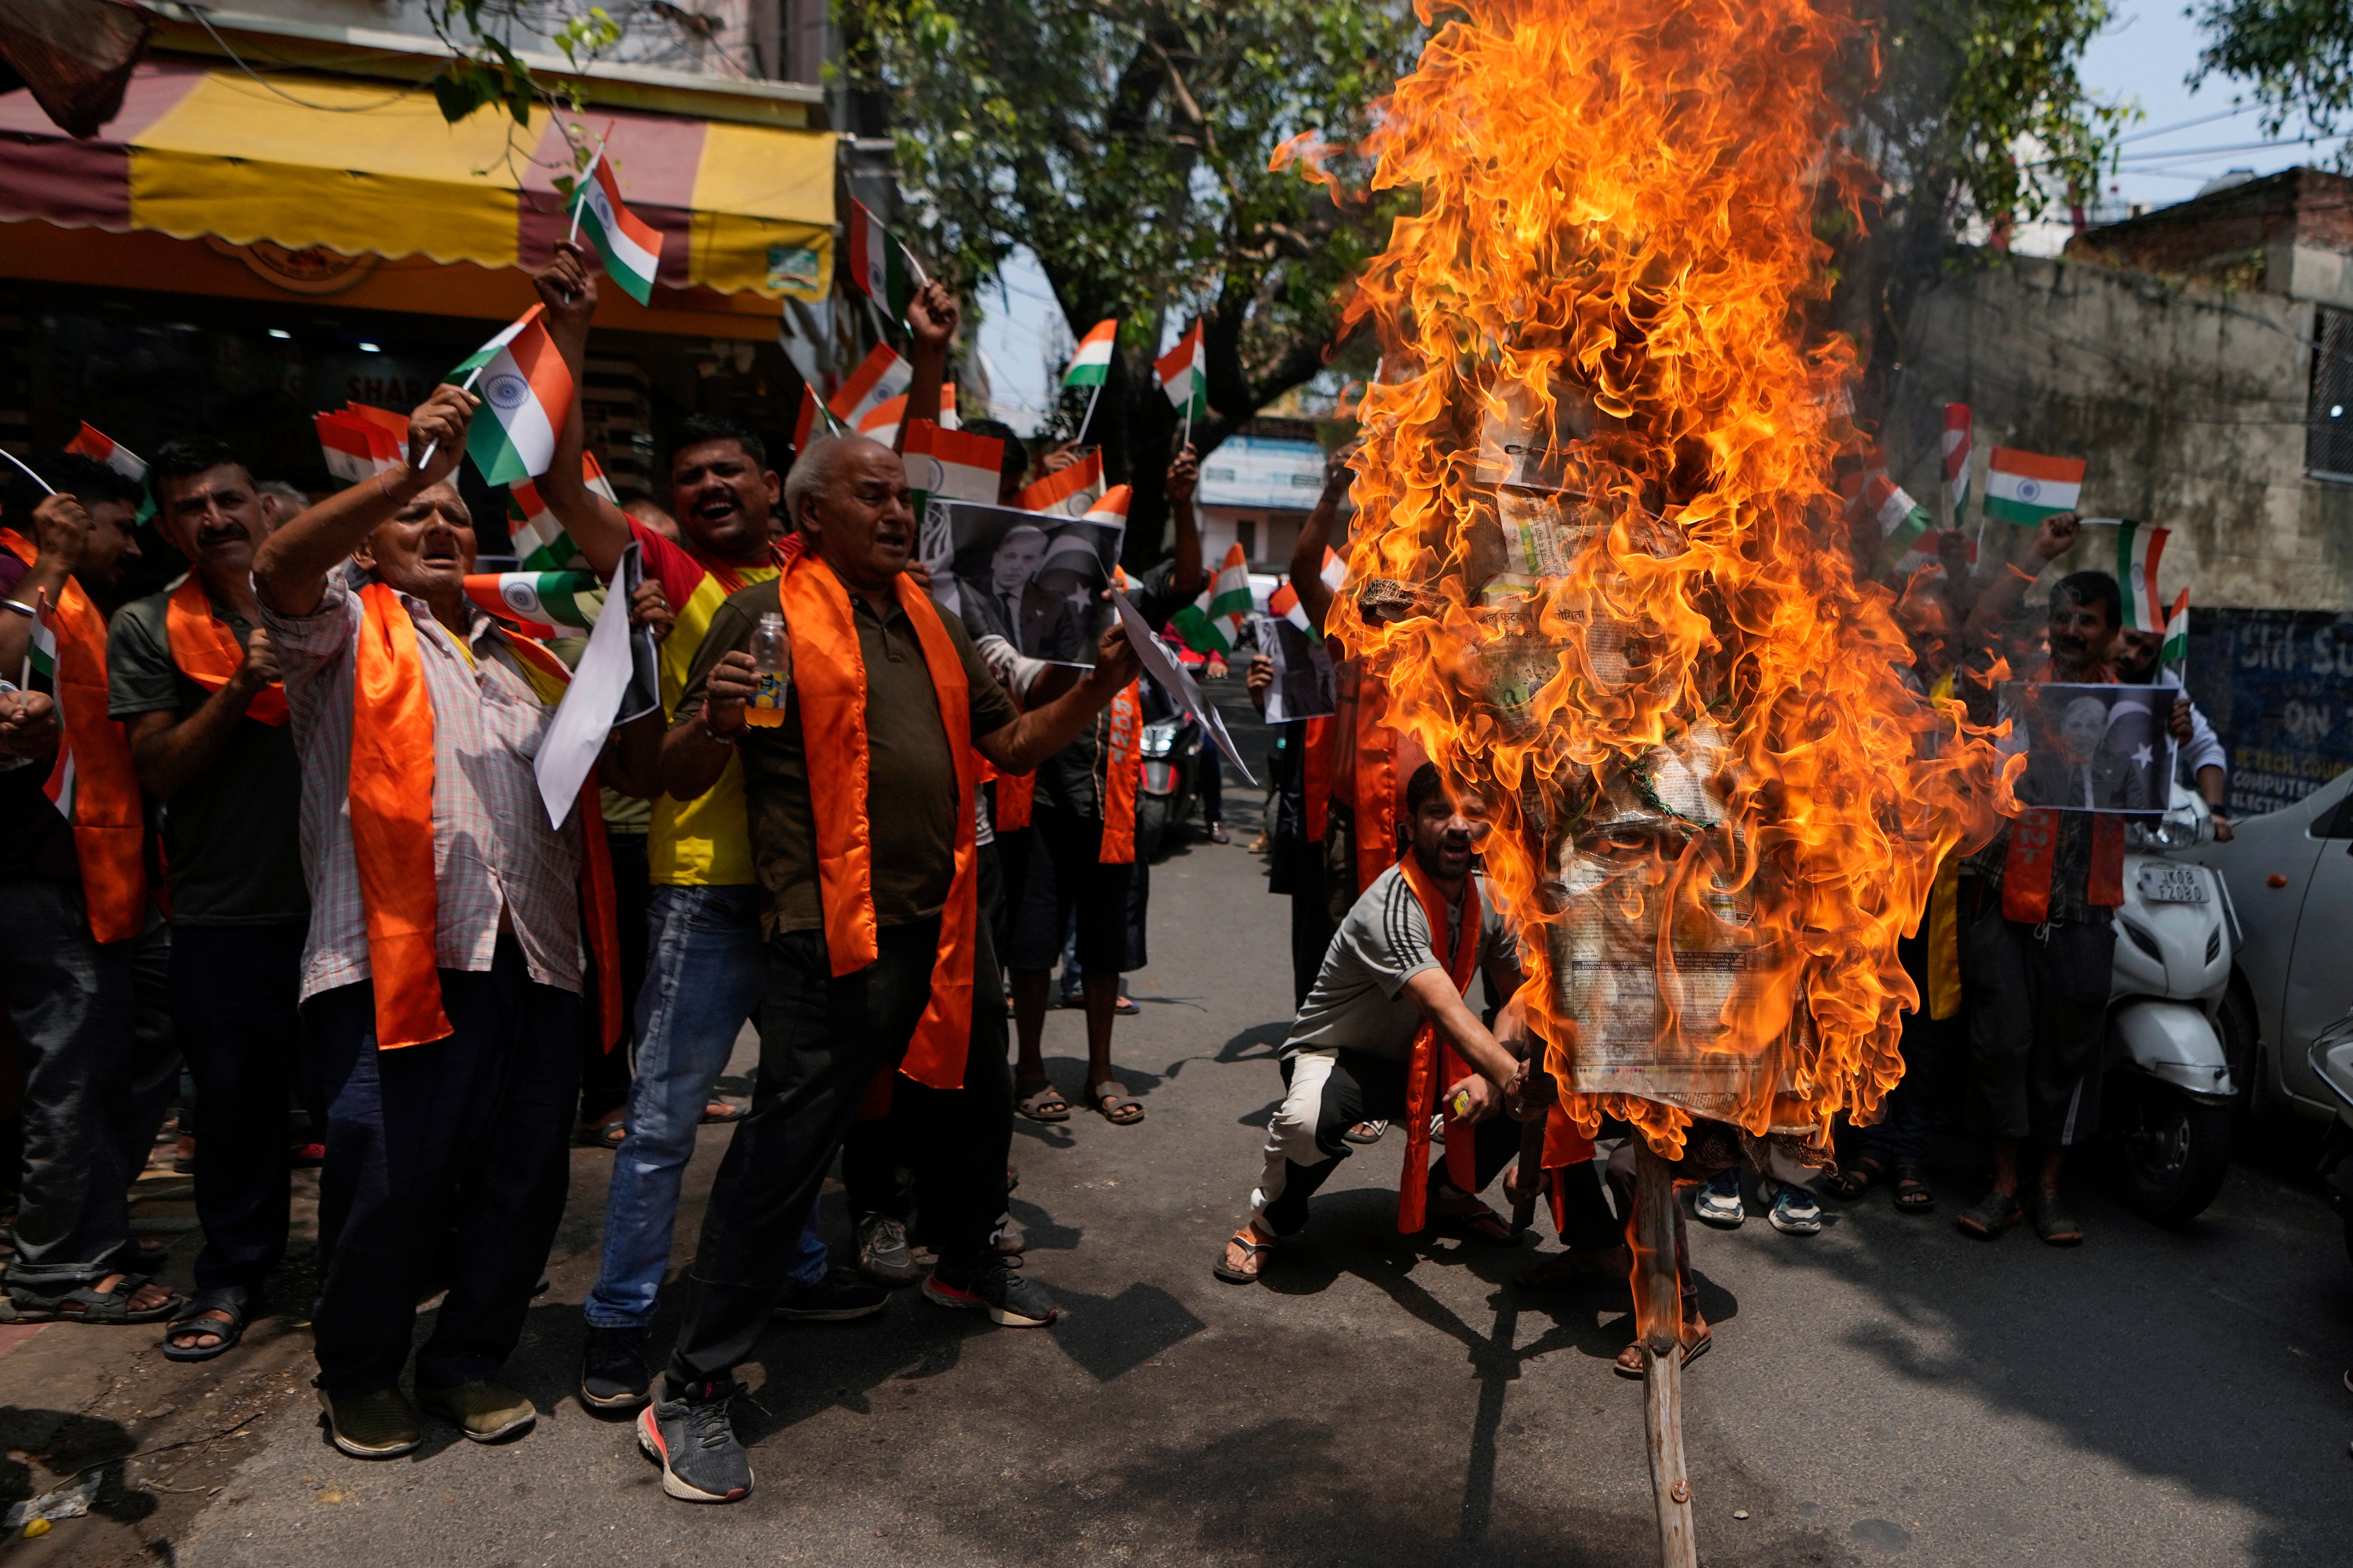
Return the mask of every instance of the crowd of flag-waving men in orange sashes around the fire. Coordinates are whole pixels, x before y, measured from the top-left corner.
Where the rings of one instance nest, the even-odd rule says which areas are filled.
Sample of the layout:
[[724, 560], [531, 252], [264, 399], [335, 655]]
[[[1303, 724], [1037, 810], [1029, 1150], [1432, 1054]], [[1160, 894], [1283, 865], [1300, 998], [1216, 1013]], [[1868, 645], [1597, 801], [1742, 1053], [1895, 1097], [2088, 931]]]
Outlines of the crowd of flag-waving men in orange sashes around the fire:
[[[562, 247], [536, 287], [576, 383], [595, 277]], [[953, 299], [927, 284], [908, 329], [901, 430], [939, 416]], [[600, 576], [640, 550], [626, 614], [656, 639], [661, 708], [612, 731], [600, 790], [551, 825], [534, 757], [579, 646], [518, 635], [466, 592], [475, 529], [454, 470], [473, 418], [473, 395], [438, 388], [409, 414], [407, 461], [320, 498], [256, 482], [212, 440], [165, 444], [144, 489], [59, 458], [59, 494], [0, 520], [0, 672], [35, 670], [0, 682], [0, 990], [24, 1067], [7, 1314], [160, 1324], [179, 1361], [233, 1349], [271, 1309], [287, 1248], [287, 1147], [315, 1138], [311, 1321], [332, 1441], [409, 1453], [419, 1408], [506, 1439], [534, 1422], [501, 1373], [544, 1288], [567, 1150], [602, 1145], [614, 1168], [579, 1396], [635, 1413], [673, 1497], [725, 1502], [753, 1486], [734, 1368], [772, 1316], [864, 1316], [918, 1281], [1002, 1326], [1056, 1316], [1019, 1269], [1012, 1121], [1073, 1112], [1040, 1053], [1059, 959], [1080, 976], [1085, 1110], [1144, 1117], [1111, 1065], [1120, 973], [1144, 961], [1139, 663], [1120, 630], [1092, 668], [1045, 665], [979, 614], [944, 611], [911, 567], [918, 520], [892, 447], [816, 437], [776, 463], [751, 430], [694, 416], [675, 430], [666, 508], [624, 508], [581, 480], [574, 402], [541, 494]], [[986, 433], [1005, 451], [1000, 498], [1068, 456], [1033, 463], [1012, 430]], [[1315, 628], [1346, 458], [1292, 559]], [[1155, 628], [1205, 588], [1193, 482], [1186, 449], [1167, 473], [1174, 552], [1127, 585]], [[146, 503], [191, 569], [106, 616]], [[2028, 562], [2071, 538], [2073, 517], [2045, 522]], [[1932, 696], [2012, 635], [2035, 576], [1946, 567], [1904, 599], [1908, 677]], [[2014, 646], [2014, 663], [2031, 679], [2162, 679], [2153, 649], [2118, 635], [2118, 604], [2104, 574], [2061, 578], [2047, 646]], [[45, 628], [54, 658], [45, 644], [33, 658]], [[769, 628], [791, 665], [762, 712], [776, 672], [753, 649]], [[1522, 1173], [1518, 1124], [1494, 1114], [1541, 1105], [1501, 1006], [1518, 952], [1475, 872], [1485, 809], [1381, 722], [1377, 670], [1341, 661], [1334, 675], [1339, 710], [1273, 736], [1266, 849], [1271, 891], [1292, 900], [1297, 1023], [1264, 1166], [1214, 1269], [1259, 1279], [1337, 1161], [1395, 1126], [1414, 1150], [1414, 1220], [1511, 1241], [1478, 1194], [1499, 1175], [1515, 1201], [1541, 1182], [1565, 1251], [1532, 1281], [1624, 1279], [1631, 1143]], [[1261, 703], [1268, 679], [1252, 661]], [[2219, 748], [2186, 698], [2174, 722], [2219, 802]], [[1995, 1182], [1960, 1225], [2080, 1239], [2059, 1171], [2097, 1124], [2111, 830], [2028, 820], [1946, 867], [1944, 914], [1904, 947], [1922, 997], [1904, 1030], [1911, 1072], [1821, 1182], [1831, 1197], [1887, 1185], [1897, 1208], [1934, 1211], [1920, 1084], [1967, 1065]], [[1466, 999], [1478, 976], [1485, 1013]], [[748, 1110], [718, 1095], [746, 1023], [760, 1039]], [[1412, 1072], [1433, 1041], [1457, 1074]], [[193, 1295], [153, 1279], [125, 1197], [181, 1065], [200, 1112]], [[1428, 1164], [1440, 1093], [1466, 1135]], [[656, 1366], [649, 1324], [708, 1121], [736, 1126]], [[819, 1232], [835, 1159], [849, 1267]], [[1739, 1222], [1737, 1140], [1697, 1138], [1692, 1159], [1699, 1218]], [[1762, 1175], [1777, 1227], [1819, 1227], [1805, 1171]], [[409, 1368], [414, 1307], [433, 1293]], [[1685, 1302], [1689, 1356], [1708, 1331]]]

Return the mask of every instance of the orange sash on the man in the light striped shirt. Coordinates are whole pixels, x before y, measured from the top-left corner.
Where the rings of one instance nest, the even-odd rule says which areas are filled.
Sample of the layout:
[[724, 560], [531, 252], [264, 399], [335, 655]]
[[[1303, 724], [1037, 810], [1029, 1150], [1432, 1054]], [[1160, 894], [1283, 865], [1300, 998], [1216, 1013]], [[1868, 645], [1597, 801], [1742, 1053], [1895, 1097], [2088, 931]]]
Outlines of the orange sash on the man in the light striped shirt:
[[[504, 635], [504, 632], [501, 632]], [[520, 637], [506, 646], [522, 663], [569, 682], [546, 649]], [[581, 900], [598, 969], [598, 1037], [621, 1037], [621, 940], [614, 926], [612, 849], [595, 776], [581, 785]], [[449, 1037], [440, 1004], [433, 877], [433, 701], [426, 693], [416, 623], [386, 583], [360, 590], [360, 649], [351, 686], [351, 851], [367, 910], [367, 966], [376, 987], [376, 1048]]]

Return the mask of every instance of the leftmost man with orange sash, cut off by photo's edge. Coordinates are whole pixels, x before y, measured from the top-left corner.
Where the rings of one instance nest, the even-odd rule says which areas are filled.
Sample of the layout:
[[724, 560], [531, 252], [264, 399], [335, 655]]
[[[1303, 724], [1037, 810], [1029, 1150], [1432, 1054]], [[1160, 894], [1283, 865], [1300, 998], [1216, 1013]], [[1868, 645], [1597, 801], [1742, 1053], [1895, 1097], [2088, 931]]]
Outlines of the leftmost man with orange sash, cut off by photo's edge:
[[21, 762], [0, 771], [0, 994], [26, 1053], [26, 1180], [0, 1312], [151, 1324], [179, 1298], [136, 1272], [125, 1192], [176, 1077], [169, 1027], [141, 1006], [169, 938], [148, 896], [129, 743], [106, 717], [99, 611], [139, 557], [141, 494], [89, 458], [47, 468], [59, 494], [0, 522], [0, 675], [24, 672], [35, 604], [56, 639], [54, 672], [31, 677], [52, 701], [47, 745], [12, 748]]

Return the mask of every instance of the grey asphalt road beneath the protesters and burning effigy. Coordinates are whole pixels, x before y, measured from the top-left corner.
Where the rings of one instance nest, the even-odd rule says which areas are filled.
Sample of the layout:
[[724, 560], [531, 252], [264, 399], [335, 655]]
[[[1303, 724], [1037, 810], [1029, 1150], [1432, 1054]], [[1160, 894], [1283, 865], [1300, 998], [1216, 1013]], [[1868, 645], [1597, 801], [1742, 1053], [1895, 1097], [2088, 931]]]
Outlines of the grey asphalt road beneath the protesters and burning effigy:
[[[75, 1347], [108, 1331], [54, 1328], [0, 1359], [12, 1434], [85, 1394], [120, 1450], [158, 1448], [167, 1434], [141, 1422], [167, 1403], [219, 1415], [184, 1469], [134, 1460], [111, 1519], [61, 1523], [26, 1561], [108, 1561], [99, 1542], [202, 1568], [1652, 1561], [1638, 1387], [1609, 1368], [1624, 1293], [1518, 1286], [1534, 1244], [1400, 1241], [1395, 1138], [1325, 1187], [1266, 1286], [1209, 1276], [1289, 1013], [1287, 910], [1245, 851], [1249, 792], [1228, 799], [1233, 846], [1153, 872], [1144, 1016], [1118, 1032], [1146, 1121], [1014, 1140], [1028, 1267], [1068, 1307], [1059, 1326], [1000, 1331], [901, 1293], [866, 1324], [776, 1328], [746, 1368], [755, 1495], [673, 1502], [628, 1425], [569, 1399], [607, 1164], [584, 1150], [555, 1288], [511, 1363], [544, 1410], [529, 1436], [431, 1429], [414, 1458], [362, 1465], [320, 1436], [299, 1328], [205, 1387], [146, 1354], [92, 1371]], [[1080, 1018], [1049, 1016], [1066, 1093], [1082, 1058]], [[725, 1138], [706, 1128], [692, 1194]], [[1965, 1171], [1944, 1173], [1934, 1220], [1873, 1194], [1814, 1239], [1694, 1227], [1715, 1321], [1685, 1382], [1701, 1561], [2353, 1559], [2353, 1265], [2334, 1218], [2245, 1166], [2179, 1234], [2078, 1192], [2078, 1251], [1962, 1239]], [[682, 1248], [692, 1234], [689, 1215]], [[59, 1408], [24, 1408], [45, 1394]]]

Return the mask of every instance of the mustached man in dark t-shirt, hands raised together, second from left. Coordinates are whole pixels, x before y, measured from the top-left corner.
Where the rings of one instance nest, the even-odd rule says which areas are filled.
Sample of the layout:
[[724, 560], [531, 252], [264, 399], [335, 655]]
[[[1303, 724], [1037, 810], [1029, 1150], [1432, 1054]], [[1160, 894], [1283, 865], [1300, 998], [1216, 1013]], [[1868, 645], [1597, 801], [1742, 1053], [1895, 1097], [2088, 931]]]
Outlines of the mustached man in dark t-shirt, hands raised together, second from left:
[[165, 442], [148, 463], [155, 527], [188, 557], [167, 592], [125, 604], [108, 646], [108, 712], [165, 802], [172, 1034], [195, 1074], [195, 1300], [165, 1356], [207, 1361], [264, 1312], [287, 1244], [287, 1088], [301, 1067], [301, 766], [278, 649], [254, 604], [254, 550], [278, 501], [221, 442]]

